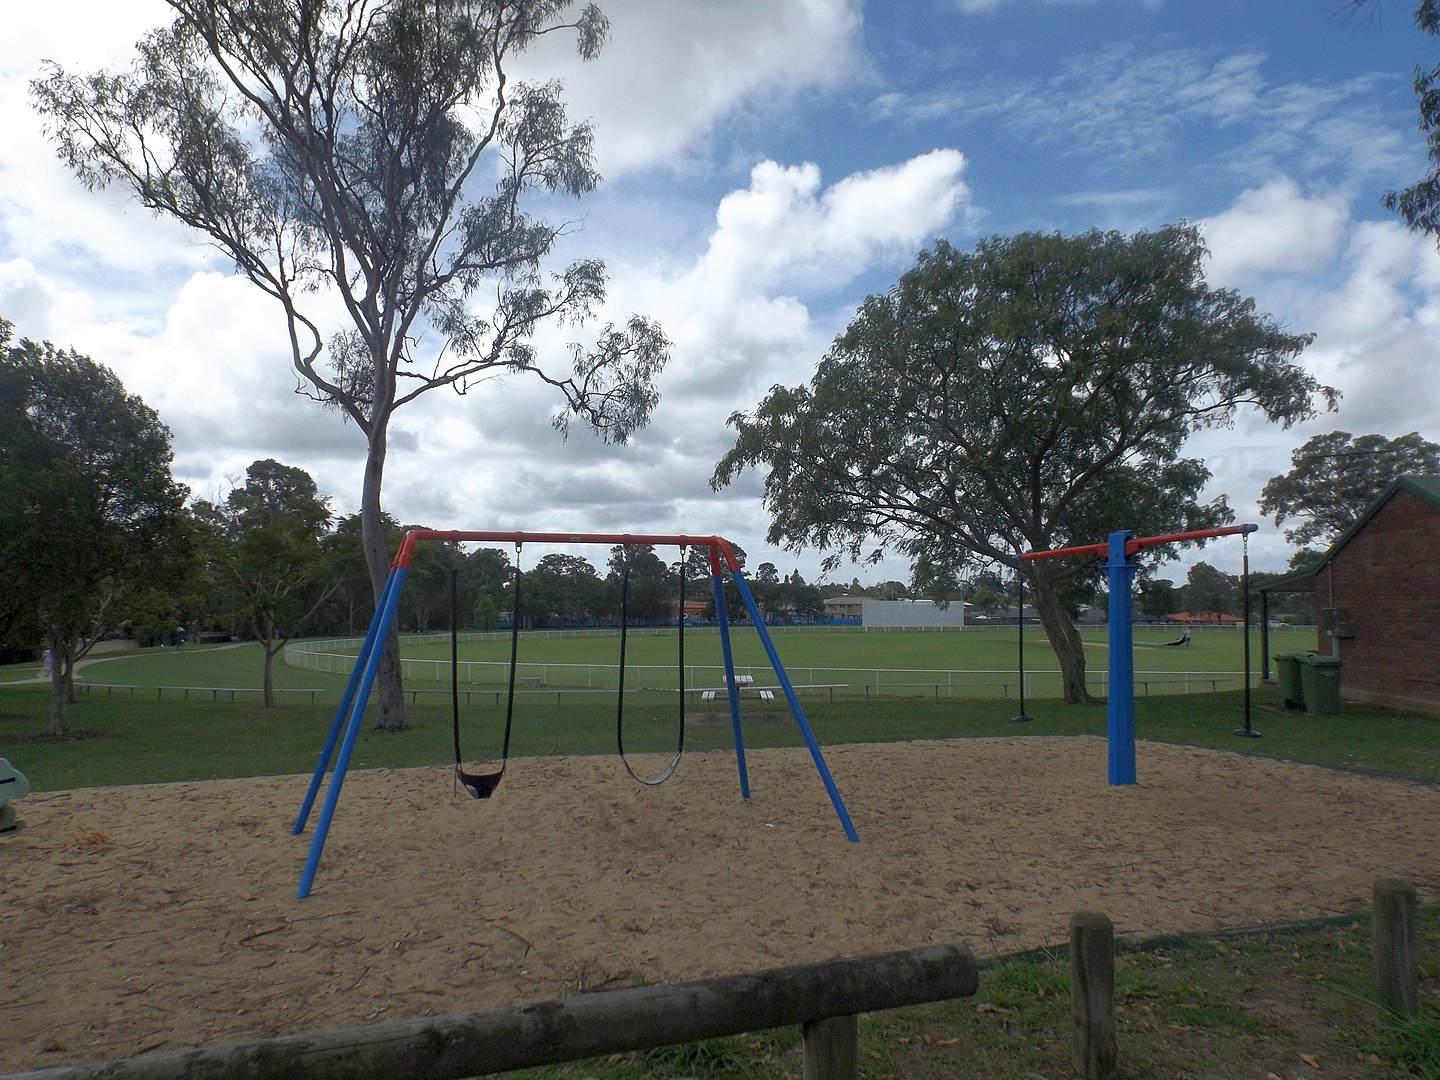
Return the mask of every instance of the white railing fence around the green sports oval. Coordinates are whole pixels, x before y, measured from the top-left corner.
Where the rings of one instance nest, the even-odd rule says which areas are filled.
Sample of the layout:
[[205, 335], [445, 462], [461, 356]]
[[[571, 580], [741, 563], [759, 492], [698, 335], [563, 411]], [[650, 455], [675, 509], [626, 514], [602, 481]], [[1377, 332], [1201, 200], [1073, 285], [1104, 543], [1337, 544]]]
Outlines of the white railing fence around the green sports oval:
[[[802, 628], [795, 628], [802, 629]], [[847, 628], [854, 632], [860, 628]], [[929, 629], [929, 628], [927, 628]], [[560, 636], [582, 636], [613, 634], [615, 631], [547, 631]], [[634, 629], [632, 635], [664, 635], [670, 629]], [[508, 639], [503, 634], [462, 634], [461, 641]], [[403, 645], [433, 645], [448, 636], [402, 635]], [[304, 641], [285, 647], [285, 662], [311, 671], [348, 674], [354, 668], [360, 638], [337, 638], [325, 641]], [[354, 651], [350, 651], [354, 649]], [[1017, 697], [1021, 680], [1015, 668], [880, 668], [880, 667], [814, 667], [786, 665], [786, 674], [798, 684], [824, 685], [829, 696], [926, 696], [926, 697]], [[413, 681], [449, 683], [451, 661], [445, 660], [400, 660], [402, 677]], [[675, 690], [680, 685], [675, 664], [626, 664], [626, 685], [632, 690]], [[498, 685], [508, 678], [508, 660], [462, 660], [456, 664], [456, 681], [469, 687]], [[737, 675], [749, 675], [755, 684], [773, 683], [775, 675], [766, 664], [737, 664]], [[552, 690], [613, 690], [619, 681], [616, 664], [569, 664], [556, 661], [518, 661], [516, 677], [523, 687], [543, 685]], [[1109, 671], [1092, 670], [1086, 684], [1092, 691], [1109, 693]], [[723, 687], [724, 668], [719, 664], [685, 664], [685, 687]], [[1142, 697], [1153, 694], [1218, 693], [1244, 685], [1241, 671], [1139, 671], [1135, 675], [1135, 693]], [[1061, 693], [1061, 675], [1057, 668], [1032, 668], [1025, 671], [1024, 693], [1027, 697], [1053, 697]]]

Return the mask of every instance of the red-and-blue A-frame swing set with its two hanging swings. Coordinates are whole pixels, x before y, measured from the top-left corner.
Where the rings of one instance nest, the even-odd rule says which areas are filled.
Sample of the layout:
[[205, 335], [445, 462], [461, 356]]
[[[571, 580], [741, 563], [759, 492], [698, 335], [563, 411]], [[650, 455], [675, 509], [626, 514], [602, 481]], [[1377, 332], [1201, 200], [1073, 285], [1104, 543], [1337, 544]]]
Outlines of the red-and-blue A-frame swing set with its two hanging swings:
[[[428, 528], [412, 528], [405, 534], [400, 541], [400, 547], [396, 552], [395, 562], [390, 564], [390, 575], [386, 579], [384, 589], [380, 593], [380, 602], [376, 605], [374, 618], [370, 621], [370, 626], [366, 631], [364, 642], [360, 647], [360, 655], [356, 658], [353, 671], [350, 672], [350, 681], [346, 685], [346, 691], [341, 696], [340, 707], [336, 710], [336, 717], [330, 726], [330, 733], [325, 737], [324, 749], [320, 753], [320, 762], [315, 765], [314, 776], [311, 776], [310, 788], [305, 792], [304, 802], [301, 804], [300, 814], [295, 818], [295, 825], [291, 829], [292, 834], [298, 835], [305, 829], [305, 822], [310, 818], [310, 812], [315, 805], [315, 799], [320, 795], [320, 788], [324, 782], [325, 772], [330, 770], [331, 757], [334, 757], [334, 770], [330, 778], [330, 785], [325, 789], [325, 799], [321, 806], [320, 818], [315, 825], [315, 835], [310, 844], [310, 854], [305, 858], [305, 868], [301, 873], [300, 887], [295, 891], [297, 899], [304, 900], [310, 896], [314, 886], [315, 873], [320, 868], [320, 858], [324, 852], [325, 838], [330, 834], [330, 822], [336, 812], [336, 805], [340, 801], [340, 791], [344, 783], [346, 772], [350, 766], [350, 756], [354, 752], [356, 737], [360, 732], [361, 717], [364, 716], [366, 706], [369, 704], [370, 691], [374, 685], [376, 672], [380, 665], [380, 655], [384, 648], [384, 641], [395, 624], [396, 609], [400, 600], [400, 592], [405, 588], [405, 579], [410, 569], [410, 560], [415, 553], [415, 546], [422, 541], [439, 541], [439, 543], [513, 543], [516, 546], [516, 577], [513, 585], [513, 608], [510, 622], [510, 671], [508, 671], [508, 685], [505, 697], [505, 734], [504, 744], [501, 750], [500, 768], [494, 772], [468, 772], [464, 768], [464, 757], [461, 753], [461, 739], [459, 739], [459, 602], [458, 602], [458, 583], [452, 573], [451, 576], [451, 706], [452, 706], [452, 721], [455, 734], [455, 785], [462, 786], [475, 799], [488, 799], [494, 795], [495, 789], [500, 786], [501, 779], [505, 775], [505, 765], [510, 757], [510, 733], [514, 721], [514, 703], [516, 703], [516, 667], [520, 644], [520, 552], [526, 543], [544, 543], [544, 544], [619, 544], [625, 549], [626, 557], [624, 560], [622, 575], [621, 575], [621, 625], [619, 625], [619, 687], [616, 691], [616, 706], [615, 706], [615, 744], [619, 755], [621, 763], [625, 772], [638, 783], [647, 786], [655, 786], [664, 783], [671, 776], [674, 776], [677, 768], [680, 766], [680, 759], [684, 753], [685, 746], [685, 629], [684, 629], [684, 602], [685, 602], [685, 552], [690, 547], [701, 547], [708, 554], [710, 564], [710, 580], [714, 592], [716, 605], [716, 621], [720, 632], [720, 652], [724, 661], [724, 687], [730, 703], [730, 724], [734, 733], [734, 753], [736, 753], [736, 769], [740, 779], [740, 796], [744, 799], [750, 798], [750, 780], [749, 770], [744, 760], [744, 737], [740, 727], [740, 683], [734, 674], [734, 661], [732, 658], [730, 648], [730, 616], [726, 608], [724, 582], [726, 573], [730, 575], [730, 580], [740, 595], [746, 612], [750, 616], [750, 624], [755, 626], [760, 636], [760, 644], [765, 648], [765, 654], [770, 661], [770, 667], [775, 671], [775, 677], [779, 681], [780, 690], [785, 693], [785, 698], [789, 703], [791, 714], [795, 717], [795, 723], [805, 739], [805, 746], [809, 749], [811, 759], [815, 763], [815, 770], [825, 785], [825, 791], [829, 795], [831, 805], [835, 809], [835, 816], [840, 819], [841, 828], [845, 831], [845, 837], [852, 842], [858, 844], [860, 837], [855, 832], [855, 827], [850, 821], [850, 814], [845, 809], [845, 804], [841, 799], [840, 791], [835, 786], [835, 780], [829, 773], [829, 768], [825, 765], [825, 757], [821, 753], [819, 743], [815, 740], [815, 734], [811, 730], [809, 721], [805, 719], [805, 710], [801, 707], [799, 698], [795, 694], [795, 687], [785, 672], [785, 665], [780, 662], [780, 657], [775, 649], [775, 642], [770, 639], [770, 634], [765, 626], [765, 619], [760, 615], [759, 605], [755, 602], [755, 596], [750, 592], [749, 585], [744, 580], [744, 575], [740, 570], [740, 563], [734, 556], [734, 550], [730, 541], [719, 536], [683, 536], [683, 534], [665, 534], [665, 536], [641, 536], [631, 533], [492, 533], [492, 531], [439, 531]], [[631, 766], [625, 756], [625, 641], [629, 626], [629, 557], [628, 550], [632, 546], [678, 546], [681, 552], [681, 570], [680, 570], [680, 631], [678, 631], [678, 668], [680, 668], [680, 708], [678, 708], [678, 729], [680, 734], [675, 742], [675, 750], [665, 768], [655, 776], [641, 776]], [[338, 746], [338, 755], [336, 749]]]

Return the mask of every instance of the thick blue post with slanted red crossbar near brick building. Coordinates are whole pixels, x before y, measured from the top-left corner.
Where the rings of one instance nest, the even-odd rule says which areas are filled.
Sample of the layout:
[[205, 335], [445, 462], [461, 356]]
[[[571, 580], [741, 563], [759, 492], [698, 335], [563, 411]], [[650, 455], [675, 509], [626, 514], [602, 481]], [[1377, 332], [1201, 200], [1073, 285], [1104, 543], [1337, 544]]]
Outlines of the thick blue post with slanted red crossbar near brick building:
[[[1103, 544], [1080, 544], [1057, 547], [1051, 552], [1025, 552], [1018, 562], [1035, 559], [1061, 559], [1071, 554], [1104, 556], [1104, 573], [1110, 583], [1110, 694], [1106, 701], [1106, 734], [1109, 742], [1110, 785], [1135, 783], [1135, 635], [1130, 626], [1130, 596], [1135, 586], [1135, 572], [1139, 563], [1133, 556], [1140, 549], [1155, 544], [1175, 544], [1187, 540], [1208, 540], [1217, 536], [1248, 537], [1260, 526], [1223, 526], [1221, 528], [1198, 528], [1168, 536], [1136, 537], [1130, 530], [1110, 533]], [[1237, 734], [1256, 734], [1250, 727], [1250, 564], [1246, 556], [1246, 726]]]

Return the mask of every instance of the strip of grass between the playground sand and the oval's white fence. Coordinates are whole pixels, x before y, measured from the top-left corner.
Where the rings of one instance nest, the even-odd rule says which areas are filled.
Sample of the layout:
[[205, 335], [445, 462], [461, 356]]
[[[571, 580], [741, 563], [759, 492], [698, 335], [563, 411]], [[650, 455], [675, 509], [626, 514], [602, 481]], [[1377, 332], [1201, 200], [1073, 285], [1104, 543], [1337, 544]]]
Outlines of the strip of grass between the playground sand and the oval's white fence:
[[[796, 639], [799, 639], [798, 635]], [[877, 635], [881, 638], [909, 635]], [[948, 635], [914, 635], [919, 639]], [[973, 635], [984, 636], [984, 635]], [[22, 677], [30, 668], [12, 668]], [[0, 688], [0, 756], [30, 775], [40, 791], [76, 786], [150, 783], [220, 776], [308, 772], [330, 729], [346, 675], [298, 671], [278, 665], [281, 687], [315, 687], [320, 700], [282, 697], [276, 708], [262, 708], [258, 694], [235, 703], [206, 696], [183, 700], [154, 687], [255, 687], [261, 675], [258, 645], [238, 648], [153, 649], [107, 660], [81, 672], [92, 683], [141, 688], [92, 690], [71, 707], [81, 739], [46, 737], [49, 688]], [[145, 680], [144, 683], [141, 680]], [[380, 733], [364, 723], [353, 768], [439, 765], [452, 759], [449, 694], [438, 684], [412, 683], [428, 690], [409, 707], [410, 729]], [[1308, 716], [1274, 708], [1274, 690], [1253, 694], [1251, 724], [1261, 739], [1234, 734], [1244, 723], [1240, 691], [1158, 696], [1136, 700], [1140, 739], [1212, 746], [1292, 760], [1374, 769], [1418, 778], [1440, 778], [1440, 723], [1381, 708], [1346, 707], [1339, 716]], [[1030, 723], [1012, 723], [1015, 701], [874, 696], [868, 700], [825, 691], [802, 693], [808, 719], [822, 744], [909, 742], [917, 739], [1012, 737], [1020, 734], [1104, 734], [1106, 708], [1064, 706], [1056, 700], [1027, 701]], [[373, 706], [372, 706], [373, 708]], [[714, 723], [691, 724], [690, 749], [733, 746], [726, 703], [693, 703], [691, 719], [707, 713]], [[744, 737], [750, 749], [801, 746], [799, 730], [783, 700], [744, 701]], [[615, 752], [613, 693], [533, 691], [517, 697], [511, 753], [596, 755]], [[462, 708], [467, 759], [500, 753], [504, 694], [474, 691]], [[674, 691], [626, 696], [625, 744], [631, 752], [668, 752], [678, 733]]]

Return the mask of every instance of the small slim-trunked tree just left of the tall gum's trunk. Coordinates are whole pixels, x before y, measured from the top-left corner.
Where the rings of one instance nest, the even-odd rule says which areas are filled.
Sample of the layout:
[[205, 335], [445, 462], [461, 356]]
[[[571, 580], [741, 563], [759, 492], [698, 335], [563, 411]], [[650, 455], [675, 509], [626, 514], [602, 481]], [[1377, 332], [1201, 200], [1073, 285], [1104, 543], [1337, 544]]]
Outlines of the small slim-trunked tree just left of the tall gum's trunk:
[[238, 625], [261, 642], [265, 706], [275, 704], [275, 655], [336, 590], [325, 557], [330, 507], [308, 472], [255, 461], [225, 503], [196, 504], [210, 524], [210, 566]]

